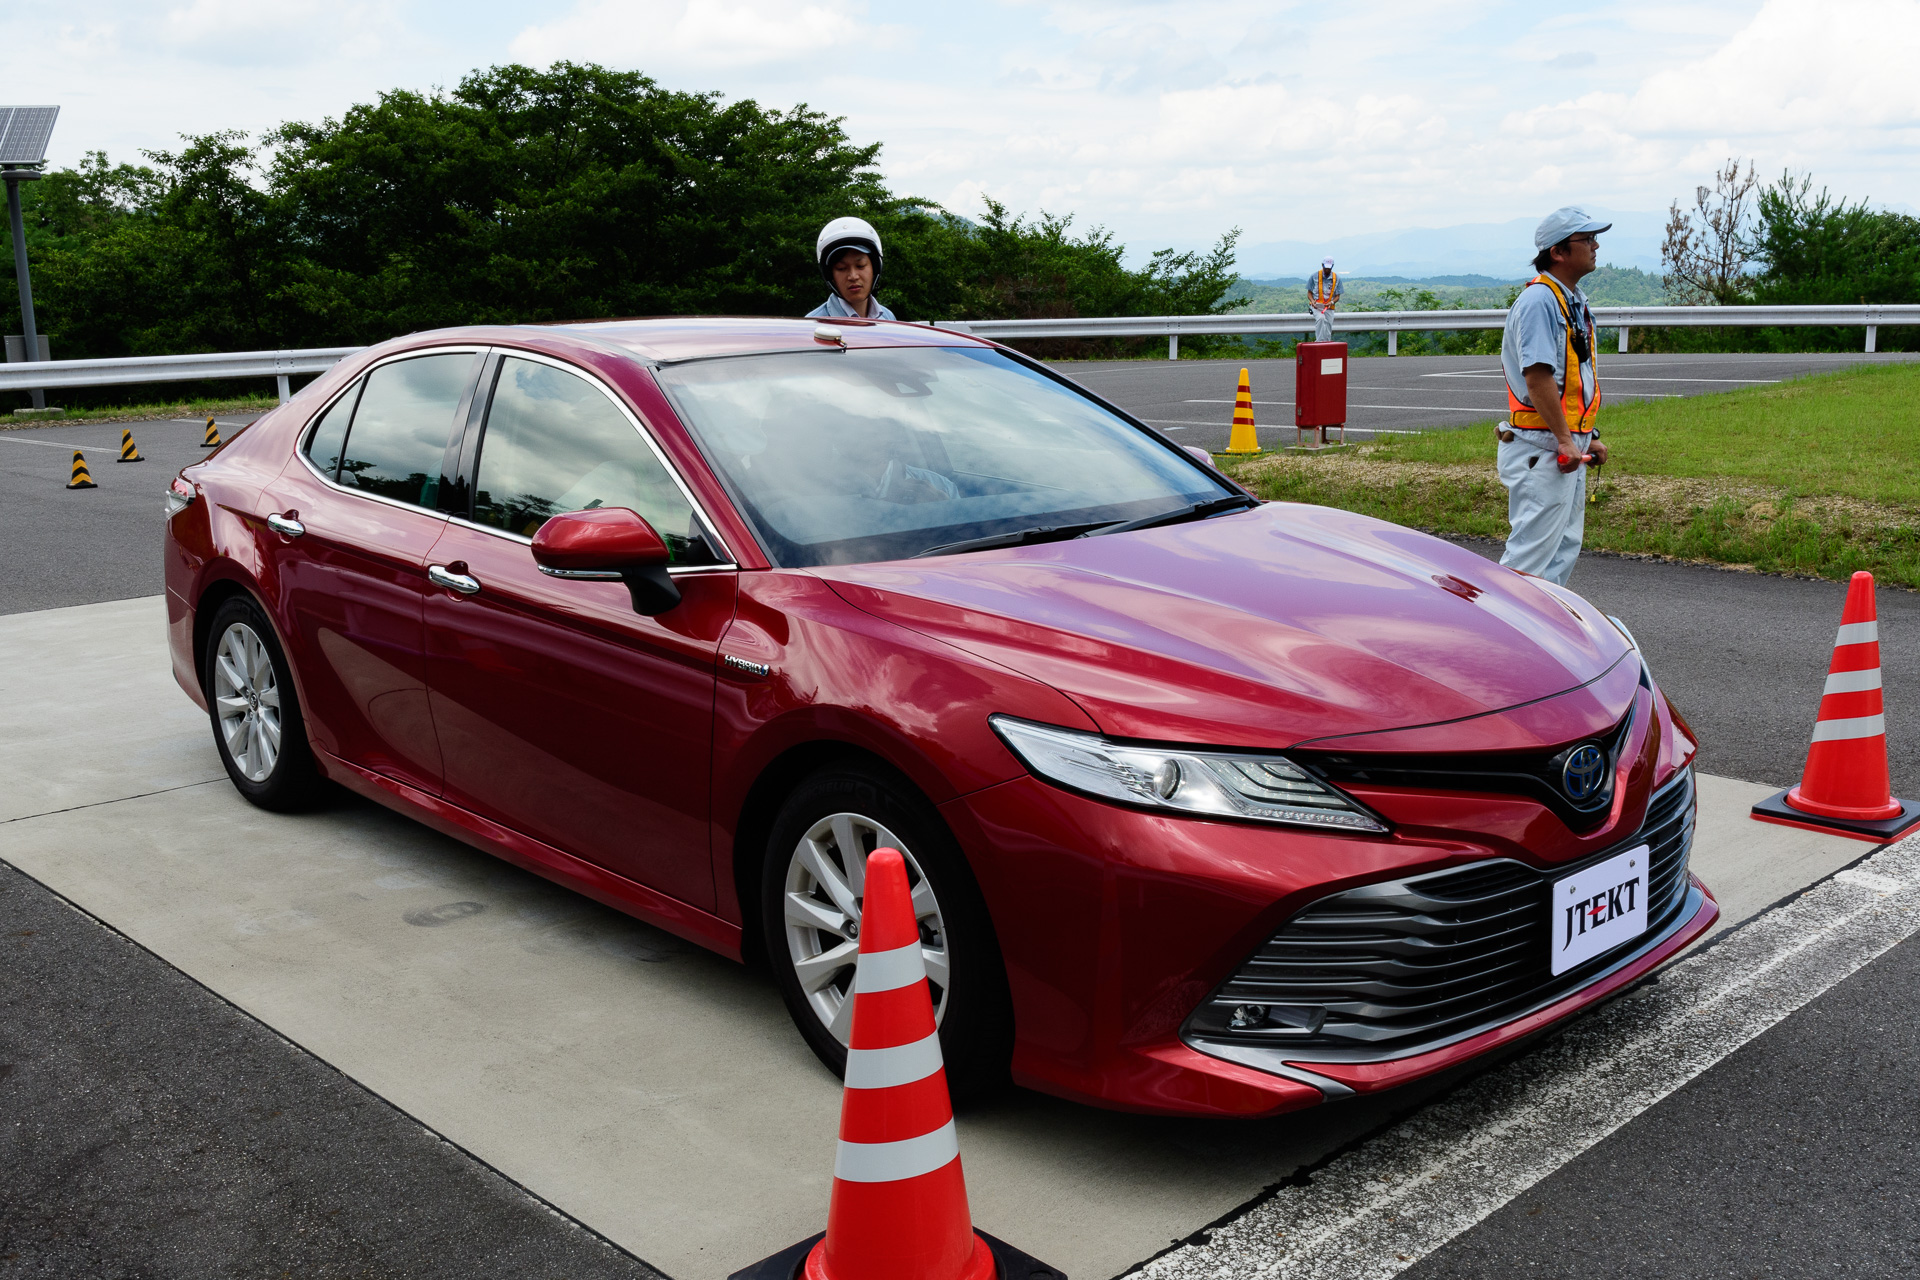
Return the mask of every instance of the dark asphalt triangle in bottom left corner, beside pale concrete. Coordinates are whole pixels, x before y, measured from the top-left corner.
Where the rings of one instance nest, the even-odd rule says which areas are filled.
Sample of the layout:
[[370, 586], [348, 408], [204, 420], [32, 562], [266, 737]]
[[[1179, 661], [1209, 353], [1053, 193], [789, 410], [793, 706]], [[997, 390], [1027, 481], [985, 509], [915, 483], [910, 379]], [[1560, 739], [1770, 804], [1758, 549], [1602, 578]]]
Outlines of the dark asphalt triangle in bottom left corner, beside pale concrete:
[[659, 1280], [0, 864], [0, 1276]]

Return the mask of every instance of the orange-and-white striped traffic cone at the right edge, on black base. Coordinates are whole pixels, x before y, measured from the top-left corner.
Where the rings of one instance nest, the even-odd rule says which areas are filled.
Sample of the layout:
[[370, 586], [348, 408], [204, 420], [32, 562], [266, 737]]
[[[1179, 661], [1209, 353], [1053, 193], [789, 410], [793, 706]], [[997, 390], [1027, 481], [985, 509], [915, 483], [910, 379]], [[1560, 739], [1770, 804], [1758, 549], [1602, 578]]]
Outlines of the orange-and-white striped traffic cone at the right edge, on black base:
[[1876, 844], [1920, 827], [1920, 804], [1895, 800], [1887, 781], [1887, 718], [1880, 695], [1880, 624], [1874, 618], [1872, 574], [1855, 574], [1847, 587], [1847, 606], [1839, 614], [1834, 662], [1801, 783], [1755, 804], [1753, 816]]

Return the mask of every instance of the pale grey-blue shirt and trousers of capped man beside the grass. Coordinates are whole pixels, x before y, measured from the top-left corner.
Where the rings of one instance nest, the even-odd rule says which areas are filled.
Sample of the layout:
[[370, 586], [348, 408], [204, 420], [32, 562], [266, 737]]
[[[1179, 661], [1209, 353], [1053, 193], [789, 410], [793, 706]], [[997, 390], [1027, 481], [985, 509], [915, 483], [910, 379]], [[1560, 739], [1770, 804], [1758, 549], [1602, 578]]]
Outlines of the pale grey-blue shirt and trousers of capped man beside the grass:
[[[1567, 305], [1582, 328], [1592, 326], [1592, 311], [1578, 288], [1567, 290]], [[1521, 290], [1513, 309], [1507, 311], [1505, 334], [1500, 340], [1500, 367], [1507, 376], [1507, 390], [1528, 407], [1532, 397], [1526, 393], [1523, 370], [1532, 365], [1551, 365], [1553, 384], [1565, 395], [1567, 320], [1553, 290], [1546, 284], [1528, 284]], [[1599, 395], [1599, 374], [1592, 355], [1580, 361], [1578, 372], [1580, 401], [1592, 407]], [[1549, 430], [1515, 428], [1511, 422], [1501, 424], [1501, 430], [1513, 439], [1500, 441], [1498, 455], [1511, 526], [1500, 562], [1565, 587], [1580, 557], [1580, 539], [1586, 535], [1586, 466], [1563, 472], [1555, 461], [1559, 443]], [[1588, 451], [1592, 439], [1592, 432], [1572, 434], [1574, 449], [1580, 453]]]

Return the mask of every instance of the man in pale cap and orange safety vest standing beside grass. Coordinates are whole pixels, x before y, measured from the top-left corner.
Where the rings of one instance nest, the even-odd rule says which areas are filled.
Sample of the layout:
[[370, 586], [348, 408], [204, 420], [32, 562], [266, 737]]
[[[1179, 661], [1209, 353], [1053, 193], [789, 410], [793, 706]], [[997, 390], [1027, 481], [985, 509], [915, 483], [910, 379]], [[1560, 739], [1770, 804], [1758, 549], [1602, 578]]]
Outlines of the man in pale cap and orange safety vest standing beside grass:
[[1572, 205], [1534, 228], [1536, 274], [1507, 311], [1500, 365], [1507, 420], [1500, 424], [1500, 482], [1507, 486], [1501, 564], [1559, 585], [1572, 576], [1586, 533], [1586, 466], [1607, 461], [1599, 441], [1594, 313], [1580, 278], [1613, 226]]

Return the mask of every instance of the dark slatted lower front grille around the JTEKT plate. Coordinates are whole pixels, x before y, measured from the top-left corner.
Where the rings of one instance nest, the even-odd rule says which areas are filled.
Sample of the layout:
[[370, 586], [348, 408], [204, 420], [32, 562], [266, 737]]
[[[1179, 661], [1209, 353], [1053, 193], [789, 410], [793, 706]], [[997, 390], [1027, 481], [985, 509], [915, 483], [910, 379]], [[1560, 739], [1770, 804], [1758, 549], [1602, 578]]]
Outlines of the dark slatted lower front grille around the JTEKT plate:
[[[1693, 771], [1682, 770], [1653, 796], [1632, 839], [1578, 864], [1542, 871], [1498, 858], [1321, 898], [1194, 1009], [1183, 1034], [1248, 1065], [1380, 1061], [1521, 1017], [1678, 925], [1690, 898], [1693, 812]], [[1651, 852], [1647, 931], [1555, 977], [1553, 881], [1636, 844]]]

